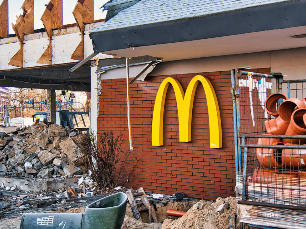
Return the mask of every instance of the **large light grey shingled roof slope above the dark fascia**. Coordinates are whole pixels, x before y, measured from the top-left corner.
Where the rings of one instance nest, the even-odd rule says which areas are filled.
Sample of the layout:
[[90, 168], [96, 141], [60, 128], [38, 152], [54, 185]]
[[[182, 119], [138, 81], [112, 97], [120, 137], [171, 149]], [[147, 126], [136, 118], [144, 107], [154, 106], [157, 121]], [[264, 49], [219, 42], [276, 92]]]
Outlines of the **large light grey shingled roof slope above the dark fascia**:
[[[118, 4], [126, 0], [115, 0]], [[91, 32], [201, 17], [289, 0], [141, 0]], [[114, 0], [113, 0], [113, 3]]]

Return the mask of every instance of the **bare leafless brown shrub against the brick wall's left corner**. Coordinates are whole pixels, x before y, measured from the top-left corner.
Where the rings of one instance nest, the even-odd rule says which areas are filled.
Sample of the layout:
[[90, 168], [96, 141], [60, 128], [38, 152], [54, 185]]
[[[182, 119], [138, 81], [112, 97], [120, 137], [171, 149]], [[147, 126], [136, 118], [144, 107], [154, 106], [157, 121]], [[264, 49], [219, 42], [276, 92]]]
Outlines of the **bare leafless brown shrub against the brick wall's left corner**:
[[82, 150], [86, 157], [86, 167], [92, 179], [100, 188], [124, 182], [126, 167], [133, 160], [131, 151], [122, 150], [122, 134], [114, 136], [113, 131], [91, 133], [83, 137]]

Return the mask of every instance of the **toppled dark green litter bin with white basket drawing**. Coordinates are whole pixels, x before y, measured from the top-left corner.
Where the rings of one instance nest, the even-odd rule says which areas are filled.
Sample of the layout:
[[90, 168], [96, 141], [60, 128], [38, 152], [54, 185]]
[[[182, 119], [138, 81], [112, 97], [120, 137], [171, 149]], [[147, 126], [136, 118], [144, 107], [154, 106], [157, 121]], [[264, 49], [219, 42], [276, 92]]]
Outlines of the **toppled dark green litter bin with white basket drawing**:
[[86, 206], [85, 213], [24, 213], [20, 229], [120, 229], [127, 196], [116, 193]]

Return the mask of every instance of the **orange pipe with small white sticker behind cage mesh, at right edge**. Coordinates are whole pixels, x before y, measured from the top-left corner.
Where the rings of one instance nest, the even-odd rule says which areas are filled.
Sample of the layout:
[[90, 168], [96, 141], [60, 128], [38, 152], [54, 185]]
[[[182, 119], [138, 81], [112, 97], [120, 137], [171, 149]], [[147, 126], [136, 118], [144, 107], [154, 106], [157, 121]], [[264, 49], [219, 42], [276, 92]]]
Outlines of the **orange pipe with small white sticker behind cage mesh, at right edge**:
[[[285, 145], [299, 145], [299, 144], [286, 143]], [[282, 153], [282, 163], [285, 167], [288, 167], [288, 168], [305, 169], [306, 168], [306, 150], [284, 149]]]

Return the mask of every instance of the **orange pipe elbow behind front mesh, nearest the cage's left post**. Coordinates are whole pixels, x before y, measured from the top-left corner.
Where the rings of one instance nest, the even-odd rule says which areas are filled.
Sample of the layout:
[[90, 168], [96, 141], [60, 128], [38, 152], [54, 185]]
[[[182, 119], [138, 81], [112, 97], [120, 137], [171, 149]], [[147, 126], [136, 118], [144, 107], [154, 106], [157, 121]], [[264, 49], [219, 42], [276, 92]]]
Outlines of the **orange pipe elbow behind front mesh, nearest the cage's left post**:
[[[257, 145], [284, 145], [280, 139], [276, 138], [259, 138]], [[266, 168], [281, 168], [282, 165], [282, 149], [256, 149], [257, 160]]]

